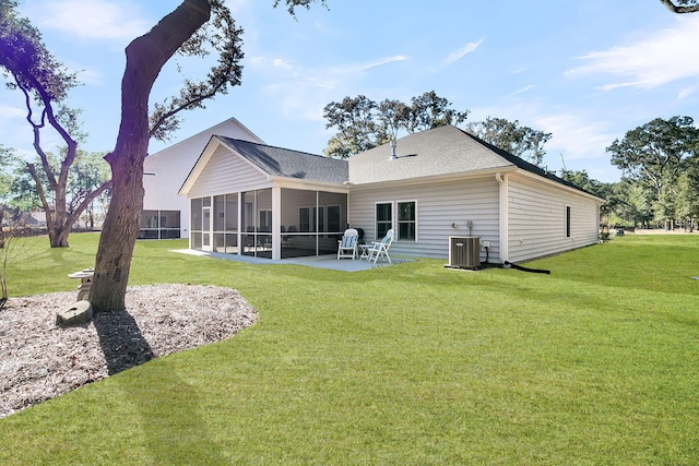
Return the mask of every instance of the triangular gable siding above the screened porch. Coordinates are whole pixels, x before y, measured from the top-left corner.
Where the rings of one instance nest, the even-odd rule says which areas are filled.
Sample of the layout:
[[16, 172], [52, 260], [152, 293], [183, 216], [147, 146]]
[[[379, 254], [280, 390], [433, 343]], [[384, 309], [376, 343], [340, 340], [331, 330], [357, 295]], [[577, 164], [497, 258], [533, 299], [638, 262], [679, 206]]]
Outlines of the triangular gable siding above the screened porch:
[[228, 194], [272, 188], [272, 182], [252, 165], [218, 146], [188, 193], [188, 198]]

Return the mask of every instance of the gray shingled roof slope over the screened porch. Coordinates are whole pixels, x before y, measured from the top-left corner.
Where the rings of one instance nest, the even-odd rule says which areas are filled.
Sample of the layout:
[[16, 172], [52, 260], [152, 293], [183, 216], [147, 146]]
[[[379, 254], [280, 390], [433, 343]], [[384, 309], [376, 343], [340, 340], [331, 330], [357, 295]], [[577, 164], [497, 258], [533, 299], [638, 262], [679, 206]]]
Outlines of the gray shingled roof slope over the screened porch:
[[217, 136], [225, 145], [272, 176], [342, 184], [347, 162], [249, 141]]

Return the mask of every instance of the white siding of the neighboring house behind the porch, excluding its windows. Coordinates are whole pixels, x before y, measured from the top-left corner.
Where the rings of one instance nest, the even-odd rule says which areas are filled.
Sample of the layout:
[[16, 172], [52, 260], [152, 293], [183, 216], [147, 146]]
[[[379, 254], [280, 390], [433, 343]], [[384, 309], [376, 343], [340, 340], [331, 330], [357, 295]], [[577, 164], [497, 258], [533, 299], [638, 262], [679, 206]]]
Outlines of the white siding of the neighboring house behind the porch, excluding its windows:
[[262, 142], [237, 120], [228, 119], [153, 154], [143, 162], [143, 210], [180, 211], [182, 238], [189, 237], [189, 202], [177, 193], [213, 134]]

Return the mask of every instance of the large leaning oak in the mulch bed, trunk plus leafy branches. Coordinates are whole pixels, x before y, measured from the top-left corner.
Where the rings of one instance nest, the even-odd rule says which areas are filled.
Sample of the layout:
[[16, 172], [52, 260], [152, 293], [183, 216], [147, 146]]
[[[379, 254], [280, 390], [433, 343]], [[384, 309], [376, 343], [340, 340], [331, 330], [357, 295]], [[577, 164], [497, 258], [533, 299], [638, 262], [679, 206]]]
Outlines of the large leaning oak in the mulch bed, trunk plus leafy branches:
[[[289, 13], [309, 8], [316, 0], [285, 0]], [[319, 0], [324, 4], [323, 0]], [[282, 3], [275, 0], [273, 5]], [[242, 29], [223, 0], [185, 0], [143, 36], [126, 48], [121, 81], [121, 123], [112, 152], [105, 158], [111, 167], [109, 211], [95, 262], [90, 301], [96, 311], [125, 309], [125, 296], [133, 248], [143, 207], [143, 160], [149, 140], [177, 128], [182, 110], [203, 108], [208, 99], [240, 84]], [[161, 70], [175, 53], [205, 57], [216, 62], [200, 81], [186, 80], [178, 96], [154, 105], [149, 97]]]

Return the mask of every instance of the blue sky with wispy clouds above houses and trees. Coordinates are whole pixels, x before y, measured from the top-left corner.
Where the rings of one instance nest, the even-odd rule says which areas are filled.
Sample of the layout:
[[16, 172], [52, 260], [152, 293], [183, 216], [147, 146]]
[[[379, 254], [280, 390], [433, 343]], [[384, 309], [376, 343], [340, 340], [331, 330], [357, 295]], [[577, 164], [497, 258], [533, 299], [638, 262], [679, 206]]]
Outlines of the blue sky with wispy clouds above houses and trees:
[[[695, 118], [699, 104], [699, 14], [675, 15], [659, 0], [328, 0], [296, 19], [272, 0], [226, 2], [245, 29], [242, 84], [182, 113], [169, 143], [152, 141], [150, 153], [235, 117], [266, 144], [320, 155], [334, 134], [327, 104], [410, 103], [435, 91], [469, 110], [466, 123], [497, 117], [552, 133], [549, 170], [614, 182], [621, 172], [607, 146], [655, 118]], [[88, 133], [83, 148], [114, 147], [123, 49], [179, 3], [20, 0], [83, 83], [70, 94]], [[208, 69], [180, 64], [183, 74], [163, 70], [152, 103]], [[33, 157], [25, 116], [20, 93], [0, 88], [0, 144]]]

